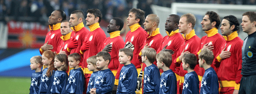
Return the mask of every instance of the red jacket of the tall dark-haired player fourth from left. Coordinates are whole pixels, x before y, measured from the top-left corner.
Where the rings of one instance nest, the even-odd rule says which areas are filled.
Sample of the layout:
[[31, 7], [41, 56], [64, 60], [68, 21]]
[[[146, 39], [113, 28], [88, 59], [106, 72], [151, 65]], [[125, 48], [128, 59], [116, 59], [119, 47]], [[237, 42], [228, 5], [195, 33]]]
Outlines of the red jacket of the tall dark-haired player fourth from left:
[[[86, 50], [85, 52], [81, 52], [81, 54], [84, 55], [83, 58], [83, 65], [81, 66], [84, 68], [84, 76], [90, 77], [92, 74], [92, 71], [89, 71], [87, 68], [87, 58], [96, 55], [101, 51], [101, 47], [104, 44], [104, 40], [106, 39], [106, 35], [104, 31], [100, 28], [99, 23], [95, 23], [91, 26], [89, 26], [90, 32], [86, 35], [84, 41], [89, 41], [89, 49]], [[83, 42], [85, 43], [85, 42]], [[86, 42], [87, 43], [87, 42]]]

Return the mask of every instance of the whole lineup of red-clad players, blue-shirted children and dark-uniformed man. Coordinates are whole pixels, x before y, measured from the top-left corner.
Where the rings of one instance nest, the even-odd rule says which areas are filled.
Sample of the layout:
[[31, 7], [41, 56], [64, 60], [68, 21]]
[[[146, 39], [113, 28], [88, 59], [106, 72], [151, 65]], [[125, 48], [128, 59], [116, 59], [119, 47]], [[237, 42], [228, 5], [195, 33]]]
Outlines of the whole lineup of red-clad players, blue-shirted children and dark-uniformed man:
[[[113, 18], [106, 37], [99, 9], [86, 18], [76, 10], [66, 20], [62, 10], [49, 16], [50, 31], [30, 59], [30, 94], [254, 94], [256, 89], [256, 12], [220, 20], [207, 11], [201, 21], [206, 33], [195, 34], [193, 14], [171, 14], [166, 36], [159, 16], [130, 9], [125, 41], [124, 21]], [[84, 27], [83, 21], [89, 27]], [[144, 25], [144, 29], [141, 27]], [[239, 26], [248, 37], [238, 37]], [[218, 28], [221, 34], [218, 33]], [[203, 33], [203, 32], [202, 32]], [[41, 70], [43, 67], [43, 70]]]

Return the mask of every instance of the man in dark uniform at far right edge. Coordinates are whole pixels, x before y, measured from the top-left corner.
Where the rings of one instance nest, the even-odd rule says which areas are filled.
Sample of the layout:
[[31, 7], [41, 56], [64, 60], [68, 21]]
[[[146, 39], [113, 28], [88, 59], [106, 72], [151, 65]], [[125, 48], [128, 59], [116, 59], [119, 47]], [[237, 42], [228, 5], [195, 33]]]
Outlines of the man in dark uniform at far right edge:
[[239, 94], [254, 94], [256, 89], [256, 12], [243, 13], [242, 28], [248, 37], [245, 38], [242, 47], [242, 69], [243, 77], [240, 81]]

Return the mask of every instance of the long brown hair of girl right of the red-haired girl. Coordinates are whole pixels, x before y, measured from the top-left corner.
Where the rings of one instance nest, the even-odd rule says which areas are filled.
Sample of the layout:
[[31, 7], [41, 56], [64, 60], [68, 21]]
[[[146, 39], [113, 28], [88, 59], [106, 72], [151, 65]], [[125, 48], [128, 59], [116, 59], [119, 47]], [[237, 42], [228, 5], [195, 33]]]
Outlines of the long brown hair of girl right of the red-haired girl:
[[55, 56], [55, 58], [57, 58], [57, 60], [59, 60], [60, 62], [64, 62], [61, 70], [68, 71], [68, 57], [65, 54], [58, 54]]

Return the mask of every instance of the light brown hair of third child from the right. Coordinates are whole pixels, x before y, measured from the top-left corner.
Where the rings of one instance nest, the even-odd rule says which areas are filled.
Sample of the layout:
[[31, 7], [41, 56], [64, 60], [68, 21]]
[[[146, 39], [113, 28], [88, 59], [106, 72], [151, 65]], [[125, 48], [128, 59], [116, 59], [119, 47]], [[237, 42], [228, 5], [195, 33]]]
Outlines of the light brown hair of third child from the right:
[[166, 67], [170, 67], [172, 64], [172, 55], [168, 52], [160, 52], [156, 55], [157, 60], [163, 62]]

